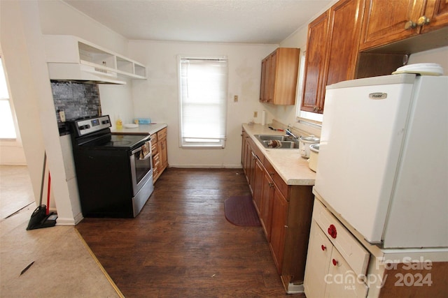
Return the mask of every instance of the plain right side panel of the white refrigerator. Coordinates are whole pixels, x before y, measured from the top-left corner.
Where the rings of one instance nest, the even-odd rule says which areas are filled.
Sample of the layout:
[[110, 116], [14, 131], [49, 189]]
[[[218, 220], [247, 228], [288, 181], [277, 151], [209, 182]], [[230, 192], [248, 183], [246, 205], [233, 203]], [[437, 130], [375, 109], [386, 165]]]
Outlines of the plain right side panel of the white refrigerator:
[[384, 248], [448, 247], [448, 77], [418, 81]]

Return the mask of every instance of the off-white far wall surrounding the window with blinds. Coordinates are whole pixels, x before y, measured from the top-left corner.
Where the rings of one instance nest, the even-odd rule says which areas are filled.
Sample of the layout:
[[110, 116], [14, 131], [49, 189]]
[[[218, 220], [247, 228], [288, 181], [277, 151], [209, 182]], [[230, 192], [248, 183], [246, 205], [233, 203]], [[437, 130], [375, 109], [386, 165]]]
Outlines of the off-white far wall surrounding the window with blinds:
[[[150, 117], [168, 124], [168, 161], [174, 167], [241, 167], [241, 124], [261, 123], [259, 102], [261, 60], [277, 45], [225, 43], [164, 43], [130, 41], [130, 53], [146, 64], [148, 80], [133, 82], [136, 117]], [[178, 72], [176, 55], [226, 55], [229, 66], [228, 119], [225, 149], [179, 148]], [[239, 96], [234, 103], [233, 96]], [[253, 117], [253, 112], [258, 117]], [[267, 123], [272, 121], [268, 111]]]

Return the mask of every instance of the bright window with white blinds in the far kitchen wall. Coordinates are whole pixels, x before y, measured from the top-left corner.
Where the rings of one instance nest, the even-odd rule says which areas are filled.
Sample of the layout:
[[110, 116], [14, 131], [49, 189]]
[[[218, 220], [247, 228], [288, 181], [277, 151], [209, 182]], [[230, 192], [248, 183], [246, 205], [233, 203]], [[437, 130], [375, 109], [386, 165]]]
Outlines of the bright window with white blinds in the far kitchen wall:
[[179, 124], [183, 148], [224, 148], [228, 97], [226, 57], [179, 57]]

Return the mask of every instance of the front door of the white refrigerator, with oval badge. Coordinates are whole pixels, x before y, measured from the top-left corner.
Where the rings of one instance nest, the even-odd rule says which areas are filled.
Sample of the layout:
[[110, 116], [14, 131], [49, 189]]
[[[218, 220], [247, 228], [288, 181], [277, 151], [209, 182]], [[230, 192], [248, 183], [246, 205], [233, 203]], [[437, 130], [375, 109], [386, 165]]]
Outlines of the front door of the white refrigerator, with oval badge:
[[[393, 84], [398, 76], [407, 83]], [[326, 91], [315, 189], [370, 243], [379, 243], [384, 231], [411, 103], [410, 76], [351, 81], [354, 87], [343, 82]]]

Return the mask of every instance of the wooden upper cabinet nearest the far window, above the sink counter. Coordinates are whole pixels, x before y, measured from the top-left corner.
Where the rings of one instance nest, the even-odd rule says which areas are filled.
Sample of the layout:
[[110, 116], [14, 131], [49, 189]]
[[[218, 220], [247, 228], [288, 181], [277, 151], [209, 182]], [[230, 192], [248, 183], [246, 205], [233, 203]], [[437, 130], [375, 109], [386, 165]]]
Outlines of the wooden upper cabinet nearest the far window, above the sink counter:
[[295, 104], [299, 53], [297, 48], [279, 47], [262, 60], [260, 102]]

